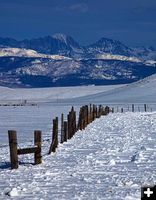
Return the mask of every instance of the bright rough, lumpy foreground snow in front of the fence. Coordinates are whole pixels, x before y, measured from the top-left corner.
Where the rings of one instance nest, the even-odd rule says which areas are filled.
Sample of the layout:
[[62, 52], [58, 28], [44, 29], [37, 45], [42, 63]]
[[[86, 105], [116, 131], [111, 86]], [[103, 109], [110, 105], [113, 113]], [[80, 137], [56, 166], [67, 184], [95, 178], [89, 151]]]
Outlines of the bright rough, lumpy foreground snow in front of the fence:
[[46, 154], [45, 139], [43, 164], [33, 166], [26, 155], [12, 171], [3, 147], [0, 199], [140, 200], [141, 186], [156, 184], [155, 132], [156, 112], [109, 114], [59, 144], [55, 154]]

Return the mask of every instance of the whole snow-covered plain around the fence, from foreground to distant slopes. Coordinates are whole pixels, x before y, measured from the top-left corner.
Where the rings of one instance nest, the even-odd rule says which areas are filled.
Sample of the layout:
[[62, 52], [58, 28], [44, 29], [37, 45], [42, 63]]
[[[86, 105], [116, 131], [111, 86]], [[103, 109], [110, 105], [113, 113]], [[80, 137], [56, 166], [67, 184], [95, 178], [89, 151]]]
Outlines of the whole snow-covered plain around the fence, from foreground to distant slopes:
[[[0, 88], [1, 103], [37, 102], [37, 106], [0, 106], [0, 199], [139, 200], [141, 186], [156, 184], [155, 82], [152, 76], [119, 88], [90, 86], [66, 92]], [[52, 119], [67, 114], [72, 105], [78, 110], [94, 102], [109, 103], [116, 111], [122, 106], [124, 113], [96, 119], [47, 155]], [[140, 106], [139, 111], [143, 111], [140, 103], [149, 104], [148, 112], [129, 112], [132, 103]], [[35, 129], [43, 131], [42, 164], [34, 166], [33, 155], [25, 155], [19, 157], [19, 169], [10, 170], [9, 129], [17, 130], [20, 148], [32, 146]]]

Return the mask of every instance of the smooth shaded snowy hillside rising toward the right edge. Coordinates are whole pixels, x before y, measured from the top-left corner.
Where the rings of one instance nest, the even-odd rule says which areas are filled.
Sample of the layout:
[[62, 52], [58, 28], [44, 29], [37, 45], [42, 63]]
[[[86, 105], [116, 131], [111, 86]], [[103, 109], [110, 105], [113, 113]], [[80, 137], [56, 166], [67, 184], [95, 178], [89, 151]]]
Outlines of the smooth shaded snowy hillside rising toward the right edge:
[[71, 102], [156, 103], [156, 75], [98, 94], [75, 98]]

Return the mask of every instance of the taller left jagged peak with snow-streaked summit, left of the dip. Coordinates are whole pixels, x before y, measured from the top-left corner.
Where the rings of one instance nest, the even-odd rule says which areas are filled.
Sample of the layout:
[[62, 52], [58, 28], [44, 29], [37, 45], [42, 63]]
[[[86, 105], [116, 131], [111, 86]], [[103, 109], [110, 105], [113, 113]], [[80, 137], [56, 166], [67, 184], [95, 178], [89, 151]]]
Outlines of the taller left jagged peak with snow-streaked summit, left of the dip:
[[0, 46], [33, 49], [42, 54], [59, 54], [67, 57], [77, 57], [83, 53], [83, 48], [72, 37], [64, 34], [22, 41], [0, 38]]

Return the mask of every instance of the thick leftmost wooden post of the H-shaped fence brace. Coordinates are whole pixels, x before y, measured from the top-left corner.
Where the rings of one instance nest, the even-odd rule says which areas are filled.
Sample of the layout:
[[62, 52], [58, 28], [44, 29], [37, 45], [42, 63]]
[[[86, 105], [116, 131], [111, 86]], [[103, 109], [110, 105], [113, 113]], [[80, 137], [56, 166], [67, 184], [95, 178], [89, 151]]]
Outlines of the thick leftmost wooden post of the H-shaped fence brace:
[[11, 169], [18, 168], [17, 134], [14, 130], [8, 131]]

